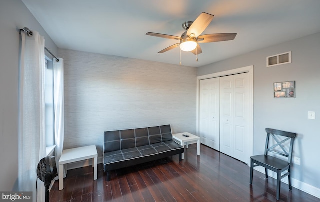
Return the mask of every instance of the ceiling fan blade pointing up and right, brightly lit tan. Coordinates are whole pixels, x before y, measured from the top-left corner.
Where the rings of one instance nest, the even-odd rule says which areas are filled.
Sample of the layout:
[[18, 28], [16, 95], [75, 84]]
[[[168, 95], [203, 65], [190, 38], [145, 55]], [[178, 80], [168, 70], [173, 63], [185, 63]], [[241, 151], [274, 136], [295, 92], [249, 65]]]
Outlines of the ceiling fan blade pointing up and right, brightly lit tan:
[[190, 37], [198, 37], [206, 27], [211, 23], [214, 15], [202, 12], [191, 24], [187, 30], [186, 35]]

